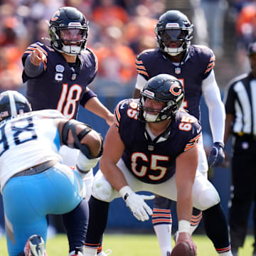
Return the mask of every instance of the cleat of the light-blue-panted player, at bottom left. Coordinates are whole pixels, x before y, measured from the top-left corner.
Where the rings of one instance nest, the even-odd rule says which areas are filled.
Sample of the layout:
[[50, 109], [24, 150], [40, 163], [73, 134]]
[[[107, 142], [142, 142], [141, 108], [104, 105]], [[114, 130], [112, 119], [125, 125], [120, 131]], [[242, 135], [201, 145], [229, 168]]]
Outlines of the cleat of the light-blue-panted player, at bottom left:
[[43, 238], [40, 235], [31, 235], [26, 242], [24, 253], [25, 256], [47, 256]]

